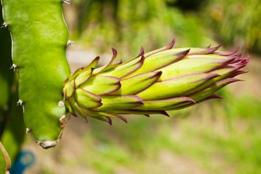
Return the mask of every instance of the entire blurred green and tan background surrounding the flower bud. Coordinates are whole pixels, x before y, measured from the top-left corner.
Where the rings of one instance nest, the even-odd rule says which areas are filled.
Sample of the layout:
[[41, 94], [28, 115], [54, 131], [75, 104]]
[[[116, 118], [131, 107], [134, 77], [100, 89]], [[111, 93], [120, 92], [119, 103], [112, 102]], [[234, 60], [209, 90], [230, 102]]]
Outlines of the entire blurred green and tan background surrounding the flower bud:
[[176, 38], [175, 47], [223, 45], [252, 55], [238, 82], [220, 90], [225, 99], [154, 115], [126, 116], [128, 124], [71, 118], [63, 140], [43, 151], [27, 136], [23, 149], [36, 155], [26, 173], [261, 173], [260, 0], [71, 0], [65, 18], [73, 46], [71, 70], [96, 55], [151, 51]]

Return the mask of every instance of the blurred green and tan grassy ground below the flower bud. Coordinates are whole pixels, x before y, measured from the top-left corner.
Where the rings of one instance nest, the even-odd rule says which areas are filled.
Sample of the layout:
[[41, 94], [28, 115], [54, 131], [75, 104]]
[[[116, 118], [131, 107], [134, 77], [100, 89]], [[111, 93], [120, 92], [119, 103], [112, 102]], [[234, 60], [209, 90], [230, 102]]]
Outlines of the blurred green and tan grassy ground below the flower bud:
[[[261, 173], [261, 101], [221, 93], [225, 99], [169, 112], [170, 118], [128, 116], [128, 124], [112, 127], [90, 119], [85, 129], [78, 122], [73, 141], [54, 156], [65, 171], [86, 173]], [[46, 165], [43, 173], [60, 171]]]

